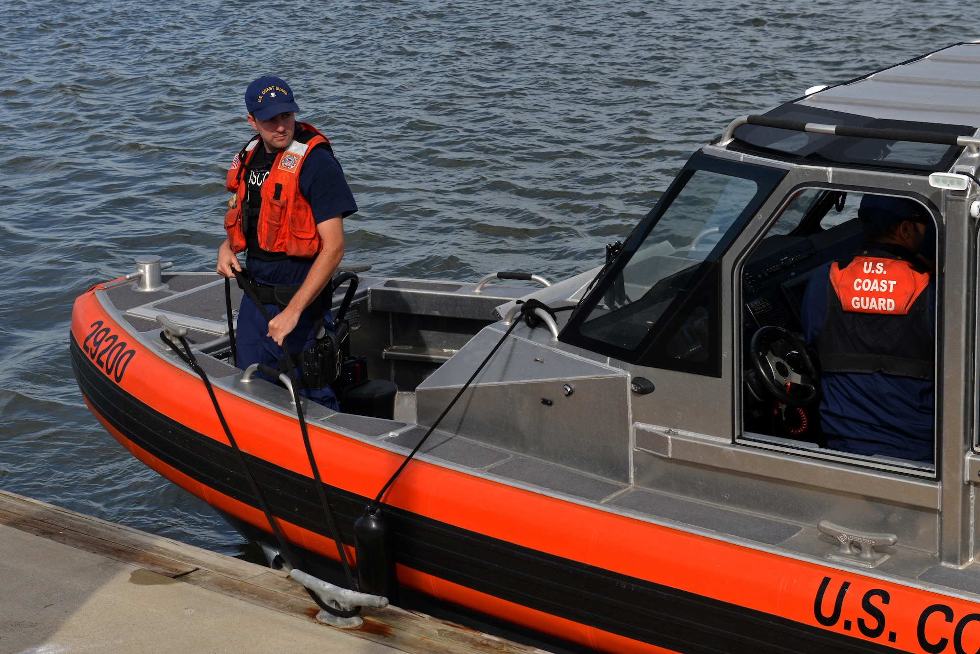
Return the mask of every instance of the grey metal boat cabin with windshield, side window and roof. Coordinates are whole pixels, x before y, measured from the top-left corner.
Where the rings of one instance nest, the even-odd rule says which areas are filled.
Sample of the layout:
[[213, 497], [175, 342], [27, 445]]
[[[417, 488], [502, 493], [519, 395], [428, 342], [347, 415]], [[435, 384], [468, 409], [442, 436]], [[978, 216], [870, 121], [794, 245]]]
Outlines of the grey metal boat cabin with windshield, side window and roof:
[[[980, 484], [980, 159], [975, 141], [956, 144], [980, 125], [978, 73], [980, 45], [961, 44], [735, 121], [684, 164], [598, 277], [532, 294], [575, 304], [558, 314], [557, 340], [540, 328], [515, 332], [442, 428], [611, 483], [591, 499], [614, 507], [845, 560], [838, 537], [862, 533], [894, 545], [887, 557], [856, 554], [853, 564], [980, 592], [980, 574], [952, 574], [973, 561]], [[933, 142], [911, 140], [913, 132]], [[943, 135], [952, 144], [937, 142]], [[933, 332], [925, 346], [923, 334], [908, 338], [934, 352], [934, 369], [907, 380], [917, 384], [924, 427], [882, 422], [872, 393], [868, 406], [858, 394], [846, 408], [877, 415], [899, 442], [927, 431], [914, 457], [834, 447], [813, 397], [820, 352], [804, 334], [810, 278], [859, 254], [868, 238], [858, 210], [869, 196], [907, 199], [927, 216], [915, 263], [928, 270]], [[418, 386], [421, 424], [502, 331], [486, 328]], [[780, 394], [786, 384], [811, 401]], [[549, 478], [537, 465], [524, 464], [521, 479]], [[556, 489], [589, 486], [570, 472], [552, 478], [563, 475], [567, 486]]]

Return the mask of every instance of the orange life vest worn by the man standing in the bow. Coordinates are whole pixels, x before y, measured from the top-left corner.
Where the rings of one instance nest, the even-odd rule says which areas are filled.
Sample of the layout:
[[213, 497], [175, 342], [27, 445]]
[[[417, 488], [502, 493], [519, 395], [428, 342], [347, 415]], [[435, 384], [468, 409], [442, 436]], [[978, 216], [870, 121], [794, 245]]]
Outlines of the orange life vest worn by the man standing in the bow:
[[[316, 257], [323, 249], [313, 210], [299, 189], [303, 163], [310, 152], [323, 143], [326, 147], [330, 145], [316, 127], [308, 122], [297, 122], [292, 143], [275, 155], [269, 177], [262, 185], [257, 232], [259, 247], [263, 250], [282, 252], [290, 257]], [[246, 247], [242, 201], [247, 185], [242, 181], [242, 172], [259, 147], [262, 144], [256, 136], [235, 155], [225, 176], [224, 186], [234, 195], [228, 200], [228, 210], [224, 213], [224, 231], [234, 253], [242, 252]]]

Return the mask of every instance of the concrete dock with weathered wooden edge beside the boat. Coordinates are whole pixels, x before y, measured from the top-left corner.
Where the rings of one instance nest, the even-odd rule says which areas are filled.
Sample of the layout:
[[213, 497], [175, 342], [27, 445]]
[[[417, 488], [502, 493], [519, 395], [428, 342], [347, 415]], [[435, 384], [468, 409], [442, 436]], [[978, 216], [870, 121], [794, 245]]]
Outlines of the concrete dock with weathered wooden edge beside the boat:
[[0, 654], [542, 654], [397, 607], [343, 631], [281, 571], [0, 491]]

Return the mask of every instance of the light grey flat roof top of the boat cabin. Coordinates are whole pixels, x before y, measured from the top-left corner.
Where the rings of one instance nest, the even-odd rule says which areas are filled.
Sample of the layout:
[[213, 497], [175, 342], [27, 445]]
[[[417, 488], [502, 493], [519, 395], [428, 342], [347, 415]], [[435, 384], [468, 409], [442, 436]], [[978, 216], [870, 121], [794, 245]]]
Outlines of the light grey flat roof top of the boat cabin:
[[959, 43], [794, 104], [895, 120], [980, 126], [980, 42]]

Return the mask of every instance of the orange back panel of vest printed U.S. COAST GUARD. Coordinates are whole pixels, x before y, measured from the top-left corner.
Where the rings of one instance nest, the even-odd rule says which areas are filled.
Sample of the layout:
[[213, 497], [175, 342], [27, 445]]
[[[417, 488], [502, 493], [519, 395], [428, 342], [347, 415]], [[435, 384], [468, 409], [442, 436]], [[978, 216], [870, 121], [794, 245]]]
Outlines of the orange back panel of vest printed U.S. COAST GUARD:
[[929, 286], [929, 275], [902, 259], [855, 257], [843, 270], [831, 264], [830, 283], [845, 311], [905, 315]]

